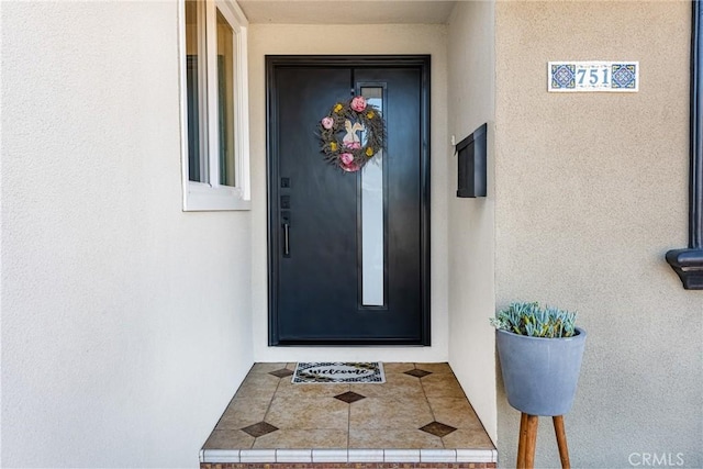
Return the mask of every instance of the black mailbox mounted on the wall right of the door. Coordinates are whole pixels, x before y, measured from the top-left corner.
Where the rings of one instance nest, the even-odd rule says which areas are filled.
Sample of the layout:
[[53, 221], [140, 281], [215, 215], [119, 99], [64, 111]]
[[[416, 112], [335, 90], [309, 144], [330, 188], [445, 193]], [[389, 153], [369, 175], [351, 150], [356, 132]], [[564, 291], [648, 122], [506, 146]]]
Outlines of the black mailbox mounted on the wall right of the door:
[[457, 197], [486, 197], [486, 130], [481, 125], [456, 146], [459, 158]]

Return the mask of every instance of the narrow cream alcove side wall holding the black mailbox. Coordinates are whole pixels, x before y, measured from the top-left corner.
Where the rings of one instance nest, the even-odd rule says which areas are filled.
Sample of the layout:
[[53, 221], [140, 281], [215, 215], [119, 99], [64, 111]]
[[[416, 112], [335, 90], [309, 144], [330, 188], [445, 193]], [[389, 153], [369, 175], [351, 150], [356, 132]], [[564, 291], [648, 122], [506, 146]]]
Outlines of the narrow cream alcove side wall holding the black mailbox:
[[496, 439], [495, 51], [492, 1], [458, 2], [448, 37], [448, 129], [460, 142], [488, 123], [488, 197], [459, 199], [457, 157], [448, 159], [449, 362], [493, 442]]

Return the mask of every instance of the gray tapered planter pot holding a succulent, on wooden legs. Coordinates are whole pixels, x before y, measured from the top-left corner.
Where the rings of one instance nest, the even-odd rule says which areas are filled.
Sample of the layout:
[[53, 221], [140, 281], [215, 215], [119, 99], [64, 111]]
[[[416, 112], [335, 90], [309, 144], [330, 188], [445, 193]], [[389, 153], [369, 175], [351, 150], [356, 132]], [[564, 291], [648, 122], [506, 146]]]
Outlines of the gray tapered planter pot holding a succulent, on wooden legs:
[[498, 330], [496, 344], [507, 402], [529, 415], [563, 415], [579, 381], [585, 331], [542, 338]]

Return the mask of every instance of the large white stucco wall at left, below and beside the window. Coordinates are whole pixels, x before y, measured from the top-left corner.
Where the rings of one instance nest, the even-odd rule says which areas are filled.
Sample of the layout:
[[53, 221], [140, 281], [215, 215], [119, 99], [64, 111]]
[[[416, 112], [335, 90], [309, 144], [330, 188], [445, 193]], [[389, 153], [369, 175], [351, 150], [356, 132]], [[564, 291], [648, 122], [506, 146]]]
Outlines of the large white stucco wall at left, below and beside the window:
[[2, 2], [2, 467], [196, 467], [250, 213], [183, 213], [176, 2]]

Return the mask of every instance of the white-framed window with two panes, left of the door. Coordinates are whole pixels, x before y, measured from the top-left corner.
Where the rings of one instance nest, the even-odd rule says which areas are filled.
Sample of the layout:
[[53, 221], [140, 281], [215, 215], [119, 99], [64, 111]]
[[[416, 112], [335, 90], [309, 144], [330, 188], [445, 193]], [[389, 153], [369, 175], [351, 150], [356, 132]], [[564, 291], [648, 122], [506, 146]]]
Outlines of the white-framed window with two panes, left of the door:
[[183, 210], [248, 210], [246, 27], [231, 0], [182, 0]]

